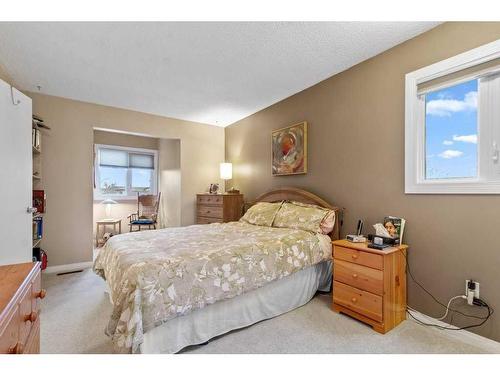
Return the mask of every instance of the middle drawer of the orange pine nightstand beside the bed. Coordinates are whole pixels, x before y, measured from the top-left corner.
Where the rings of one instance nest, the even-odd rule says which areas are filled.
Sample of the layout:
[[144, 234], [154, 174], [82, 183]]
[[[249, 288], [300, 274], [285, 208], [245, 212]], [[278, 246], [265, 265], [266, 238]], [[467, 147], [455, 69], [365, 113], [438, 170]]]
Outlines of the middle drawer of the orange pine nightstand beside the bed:
[[382, 295], [384, 293], [384, 274], [380, 270], [335, 259], [333, 277], [336, 281], [358, 289]]

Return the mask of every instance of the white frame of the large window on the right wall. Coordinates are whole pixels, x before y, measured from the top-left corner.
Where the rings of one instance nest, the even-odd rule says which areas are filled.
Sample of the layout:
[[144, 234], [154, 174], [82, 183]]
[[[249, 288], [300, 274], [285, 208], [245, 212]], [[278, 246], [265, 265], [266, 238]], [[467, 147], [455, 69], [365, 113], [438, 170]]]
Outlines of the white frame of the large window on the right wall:
[[[460, 55], [429, 65], [406, 75], [405, 83], [405, 193], [406, 194], [499, 194], [499, 169], [494, 170], [487, 163], [492, 149], [491, 131], [493, 125], [500, 128], [500, 116], [493, 122], [491, 113], [481, 111], [478, 104], [478, 178], [426, 179], [425, 178], [425, 98], [417, 95], [418, 85], [452, 74], [463, 69], [500, 58], [500, 39]], [[465, 82], [474, 79], [457, 80]], [[497, 117], [499, 114], [495, 114]], [[488, 123], [489, 129], [481, 131], [481, 123]], [[486, 131], [485, 131], [486, 130]], [[488, 132], [488, 135], [486, 135]], [[482, 134], [484, 133], [484, 134]], [[483, 137], [481, 137], [483, 135]], [[497, 134], [496, 136], [499, 136]], [[496, 137], [495, 136], [495, 137]], [[500, 138], [498, 139], [500, 141]], [[491, 163], [490, 163], [491, 164]]]

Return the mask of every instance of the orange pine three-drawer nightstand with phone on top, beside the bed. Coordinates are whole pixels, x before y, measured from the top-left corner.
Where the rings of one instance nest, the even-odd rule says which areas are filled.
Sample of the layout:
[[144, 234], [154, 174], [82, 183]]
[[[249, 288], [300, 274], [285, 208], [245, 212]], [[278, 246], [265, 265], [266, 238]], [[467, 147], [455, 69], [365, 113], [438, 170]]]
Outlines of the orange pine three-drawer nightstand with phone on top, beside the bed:
[[333, 310], [386, 333], [406, 319], [406, 250], [333, 241]]

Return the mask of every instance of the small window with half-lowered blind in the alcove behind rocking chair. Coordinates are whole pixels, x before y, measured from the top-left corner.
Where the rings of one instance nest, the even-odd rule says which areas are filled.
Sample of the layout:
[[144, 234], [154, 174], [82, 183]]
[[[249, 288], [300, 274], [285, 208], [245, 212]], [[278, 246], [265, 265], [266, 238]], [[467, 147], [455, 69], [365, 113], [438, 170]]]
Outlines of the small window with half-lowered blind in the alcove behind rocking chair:
[[157, 152], [130, 147], [96, 145], [96, 199], [135, 198], [156, 194]]

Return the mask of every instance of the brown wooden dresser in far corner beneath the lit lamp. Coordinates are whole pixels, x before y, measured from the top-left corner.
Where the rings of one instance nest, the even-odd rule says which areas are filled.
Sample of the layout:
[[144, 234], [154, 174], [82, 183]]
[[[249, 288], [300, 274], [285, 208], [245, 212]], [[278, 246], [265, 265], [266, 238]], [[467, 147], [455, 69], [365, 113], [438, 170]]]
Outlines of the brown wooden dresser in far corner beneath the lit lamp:
[[243, 194], [197, 194], [196, 223], [238, 221], [243, 211]]

